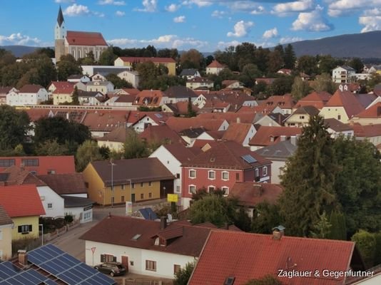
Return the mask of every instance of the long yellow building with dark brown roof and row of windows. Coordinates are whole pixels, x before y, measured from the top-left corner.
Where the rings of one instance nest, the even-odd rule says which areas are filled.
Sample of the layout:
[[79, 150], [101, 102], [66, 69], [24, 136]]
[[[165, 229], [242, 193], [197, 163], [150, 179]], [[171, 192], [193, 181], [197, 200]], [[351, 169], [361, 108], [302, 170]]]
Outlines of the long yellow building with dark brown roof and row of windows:
[[175, 177], [156, 157], [90, 162], [82, 174], [88, 198], [101, 205], [163, 199], [173, 194]]

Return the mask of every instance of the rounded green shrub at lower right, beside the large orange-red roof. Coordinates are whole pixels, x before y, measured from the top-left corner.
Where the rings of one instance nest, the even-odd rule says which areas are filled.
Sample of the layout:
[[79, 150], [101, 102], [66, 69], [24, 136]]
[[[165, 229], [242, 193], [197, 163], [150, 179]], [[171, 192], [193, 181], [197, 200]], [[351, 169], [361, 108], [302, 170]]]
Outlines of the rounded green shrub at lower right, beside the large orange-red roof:
[[352, 242], [356, 243], [357, 249], [360, 251], [365, 268], [369, 269], [375, 264], [376, 239], [375, 234], [371, 234], [363, 229], [353, 234]]

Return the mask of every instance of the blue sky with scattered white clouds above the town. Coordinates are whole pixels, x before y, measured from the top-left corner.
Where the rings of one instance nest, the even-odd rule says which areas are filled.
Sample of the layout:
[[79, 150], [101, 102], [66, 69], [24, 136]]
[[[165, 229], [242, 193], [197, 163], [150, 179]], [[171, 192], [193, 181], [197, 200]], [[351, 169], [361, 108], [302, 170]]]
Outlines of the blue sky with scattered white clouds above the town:
[[69, 31], [99, 31], [121, 48], [198, 51], [275, 46], [381, 29], [381, 0], [0, 0], [0, 46], [54, 46], [61, 5]]

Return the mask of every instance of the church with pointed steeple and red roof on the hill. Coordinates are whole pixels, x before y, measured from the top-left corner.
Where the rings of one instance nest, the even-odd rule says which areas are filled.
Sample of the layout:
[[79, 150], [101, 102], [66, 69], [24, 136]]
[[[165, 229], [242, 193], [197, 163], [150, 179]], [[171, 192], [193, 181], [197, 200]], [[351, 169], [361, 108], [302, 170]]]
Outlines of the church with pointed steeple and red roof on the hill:
[[57, 62], [61, 56], [66, 54], [71, 54], [78, 60], [86, 57], [86, 54], [90, 51], [93, 51], [94, 59], [98, 61], [101, 53], [108, 48], [108, 45], [101, 33], [66, 31], [64, 14], [62, 14], [60, 6], [59, 16], [54, 28], [54, 48]]

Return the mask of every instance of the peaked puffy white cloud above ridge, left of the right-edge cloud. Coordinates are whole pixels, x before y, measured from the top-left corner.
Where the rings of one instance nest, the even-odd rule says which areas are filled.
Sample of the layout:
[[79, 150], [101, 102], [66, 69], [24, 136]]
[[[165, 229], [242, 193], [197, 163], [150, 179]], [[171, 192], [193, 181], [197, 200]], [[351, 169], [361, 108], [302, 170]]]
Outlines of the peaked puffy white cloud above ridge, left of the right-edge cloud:
[[333, 26], [322, 17], [322, 7], [317, 5], [314, 11], [300, 13], [293, 22], [293, 31], [331, 31]]

